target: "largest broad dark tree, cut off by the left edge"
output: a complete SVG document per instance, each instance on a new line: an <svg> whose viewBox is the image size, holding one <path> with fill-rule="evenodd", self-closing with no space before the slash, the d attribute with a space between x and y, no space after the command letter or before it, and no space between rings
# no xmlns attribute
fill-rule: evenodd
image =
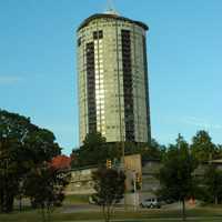
<svg viewBox="0 0 222 222"><path fill-rule="evenodd" d="M0 211L12 211L26 174L60 153L52 132L29 118L0 110Z"/></svg>

